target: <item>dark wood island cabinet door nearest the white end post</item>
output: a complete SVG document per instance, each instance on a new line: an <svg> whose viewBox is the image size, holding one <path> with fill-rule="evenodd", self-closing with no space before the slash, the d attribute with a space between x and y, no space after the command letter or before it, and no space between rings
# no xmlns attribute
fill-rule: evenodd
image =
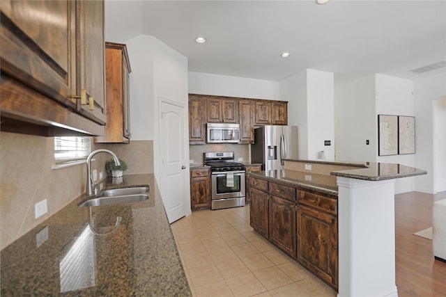
<svg viewBox="0 0 446 297"><path fill-rule="evenodd" d="M337 287L337 217L298 206L298 262Z"/></svg>

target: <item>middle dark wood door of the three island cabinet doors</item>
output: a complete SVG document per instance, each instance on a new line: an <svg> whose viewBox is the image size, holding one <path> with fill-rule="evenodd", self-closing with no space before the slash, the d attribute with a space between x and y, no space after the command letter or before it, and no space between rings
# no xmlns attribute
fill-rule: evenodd
<svg viewBox="0 0 446 297"><path fill-rule="evenodd" d="M295 257L295 202L270 196L270 241Z"/></svg>

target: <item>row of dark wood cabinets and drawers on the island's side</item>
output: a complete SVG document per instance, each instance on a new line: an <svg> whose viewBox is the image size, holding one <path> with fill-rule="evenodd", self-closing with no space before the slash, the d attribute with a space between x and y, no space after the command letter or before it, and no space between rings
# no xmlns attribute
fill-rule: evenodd
<svg viewBox="0 0 446 297"><path fill-rule="evenodd" d="M295 186L297 200L291 199L291 195L284 195L285 199L272 193L289 193L289 184L254 175L251 175L250 184L250 220L254 230L337 289L337 198Z"/></svg>

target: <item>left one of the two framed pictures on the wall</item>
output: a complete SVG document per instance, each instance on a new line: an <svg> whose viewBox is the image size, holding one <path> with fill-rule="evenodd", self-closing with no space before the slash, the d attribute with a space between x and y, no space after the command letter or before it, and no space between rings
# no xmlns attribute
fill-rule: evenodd
<svg viewBox="0 0 446 297"><path fill-rule="evenodd" d="M378 156L398 154L398 116L378 115Z"/></svg>

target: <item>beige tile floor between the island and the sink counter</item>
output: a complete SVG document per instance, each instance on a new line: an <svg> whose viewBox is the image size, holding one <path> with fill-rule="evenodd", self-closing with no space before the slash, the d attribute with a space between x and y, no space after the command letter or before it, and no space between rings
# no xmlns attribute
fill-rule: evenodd
<svg viewBox="0 0 446 297"><path fill-rule="evenodd" d="M336 296L249 226L249 205L171 225L193 296Z"/></svg>

